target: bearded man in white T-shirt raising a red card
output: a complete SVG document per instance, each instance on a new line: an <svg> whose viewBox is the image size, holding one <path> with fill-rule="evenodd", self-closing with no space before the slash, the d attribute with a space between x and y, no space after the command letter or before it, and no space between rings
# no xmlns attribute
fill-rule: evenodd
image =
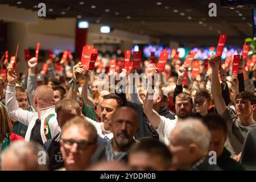
<svg viewBox="0 0 256 182"><path fill-rule="evenodd" d="M157 74L157 71L154 70L151 73L152 78ZM154 83L154 80L152 81ZM154 85L150 85L149 89L152 89ZM155 97L154 92L147 92L143 111L147 116L148 121L152 124L152 126L156 129L159 134L159 140L165 144L169 144L168 135L171 130L174 129L176 122L180 121L180 119L185 119L191 116L192 108L193 108L193 100L192 97L185 92L179 93L175 98L175 110L177 118L169 119L162 115L156 113L153 109L153 100L150 99Z"/></svg>

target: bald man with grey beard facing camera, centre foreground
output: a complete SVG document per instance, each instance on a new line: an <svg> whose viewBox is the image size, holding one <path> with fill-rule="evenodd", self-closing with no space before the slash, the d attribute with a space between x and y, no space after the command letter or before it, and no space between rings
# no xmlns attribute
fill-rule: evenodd
<svg viewBox="0 0 256 182"><path fill-rule="evenodd" d="M96 163L100 160L127 162L130 147L135 143L134 135L139 130L137 112L127 106L119 107L114 111L110 127L113 139L105 146L98 147L92 158Z"/></svg>

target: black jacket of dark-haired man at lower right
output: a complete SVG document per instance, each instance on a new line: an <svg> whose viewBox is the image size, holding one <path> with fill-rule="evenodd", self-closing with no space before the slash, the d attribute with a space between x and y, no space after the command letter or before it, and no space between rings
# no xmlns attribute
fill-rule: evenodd
<svg viewBox="0 0 256 182"><path fill-rule="evenodd" d="M230 158L230 152L224 147L224 150L219 158L217 158L217 164L224 171L245 171L242 164L236 162L236 160Z"/></svg>

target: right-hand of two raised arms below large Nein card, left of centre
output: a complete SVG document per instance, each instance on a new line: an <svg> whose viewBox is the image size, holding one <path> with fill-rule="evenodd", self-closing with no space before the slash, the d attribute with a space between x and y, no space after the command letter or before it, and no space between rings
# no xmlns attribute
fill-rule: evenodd
<svg viewBox="0 0 256 182"><path fill-rule="evenodd" d="M89 105L93 108L96 107L96 104L94 102L94 100L89 96L89 90L88 90L88 85L89 85L89 80L90 80L90 75L89 75L89 71L85 71L84 72L84 85L82 86L82 99L84 100L86 105Z"/></svg>

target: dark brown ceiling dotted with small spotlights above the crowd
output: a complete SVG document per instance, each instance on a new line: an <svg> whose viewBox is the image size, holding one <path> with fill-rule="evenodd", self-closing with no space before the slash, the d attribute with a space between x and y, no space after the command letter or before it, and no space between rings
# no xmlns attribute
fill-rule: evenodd
<svg viewBox="0 0 256 182"><path fill-rule="evenodd" d="M0 0L2 4L38 11L38 3L46 3L46 18L78 17L91 23L170 40L183 46L214 46L219 34L228 34L228 45L240 46L253 36L251 9L221 7L214 0L73 0L18 1ZM18 2L18 3L17 3ZM160 3L159 3L160 2ZM209 3L217 4L217 17L209 17ZM158 3L158 4L157 4Z"/></svg>

